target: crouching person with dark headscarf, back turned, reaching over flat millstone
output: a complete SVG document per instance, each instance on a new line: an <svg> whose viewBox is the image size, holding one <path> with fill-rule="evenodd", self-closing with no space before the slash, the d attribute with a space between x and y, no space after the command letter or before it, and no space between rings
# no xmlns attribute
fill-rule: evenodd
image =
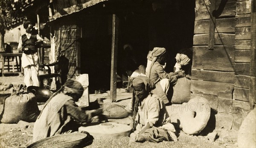
<svg viewBox="0 0 256 148"><path fill-rule="evenodd" d="M34 142L57 134L78 131L79 126L90 123L92 117L102 114L102 108L84 111L75 102L84 89L78 81L71 79L55 92L45 103L33 129Z"/></svg>

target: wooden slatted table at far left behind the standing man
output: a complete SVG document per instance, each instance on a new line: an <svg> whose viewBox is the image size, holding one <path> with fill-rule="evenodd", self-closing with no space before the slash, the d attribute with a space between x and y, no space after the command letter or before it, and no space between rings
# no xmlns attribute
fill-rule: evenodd
<svg viewBox="0 0 256 148"><path fill-rule="evenodd" d="M4 76L4 74L13 74L13 73L18 73L19 75L23 74L23 68L21 67L22 53L0 53L0 56L2 57L2 63L3 63L2 76ZM18 57L19 57L19 60L17 59ZM12 61L10 61L10 59L12 59ZM14 59L16 60L15 65L14 65ZM7 65L5 65L6 60L7 60ZM10 62L12 62L12 65L10 64ZM5 72L4 70L8 70L8 71Z"/></svg>

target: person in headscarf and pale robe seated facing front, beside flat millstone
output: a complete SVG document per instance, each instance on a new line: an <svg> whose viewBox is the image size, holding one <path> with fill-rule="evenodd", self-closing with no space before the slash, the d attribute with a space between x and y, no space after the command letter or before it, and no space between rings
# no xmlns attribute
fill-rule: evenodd
<svg viewBox="0 0 256 148"><path fill-rule="evenodd" d="M132 81L133 98L131 112L133 133L131 140L138 142L161 142L177 140L175 128L161 98L151 93L154 82L145 76L138 76Z"/></svg>

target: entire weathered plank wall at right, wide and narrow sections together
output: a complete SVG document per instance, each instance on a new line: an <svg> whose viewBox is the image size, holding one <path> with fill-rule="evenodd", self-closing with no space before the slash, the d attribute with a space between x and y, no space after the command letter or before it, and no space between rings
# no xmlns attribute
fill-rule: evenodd
<svg viewBox="0 0 256 148"><path fill-rule="evenodd" d="M249 105L250 0L227 0L215 20L214 49L209 50L209 0L196 0L192 64L193 93ZM221 0L216 0L216 9ZM233 101L233 106L240 103ZM235 105L234 105L235 104ZM241 107L241 106L240 106ZM247 109L250 106L247 106Z"/></svg>

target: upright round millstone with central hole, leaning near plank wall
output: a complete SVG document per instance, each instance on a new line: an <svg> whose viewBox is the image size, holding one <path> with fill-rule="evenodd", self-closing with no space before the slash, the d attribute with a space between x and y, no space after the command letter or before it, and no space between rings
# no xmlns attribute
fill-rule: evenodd
<svg viewBox="0 0 256 148"><path fill-rule="evenodd" d="M186 134L198 134L206 127L211 113L208 103L206 98L197 96L184 103L186 107L182 105L180 126Z"/></svg>

